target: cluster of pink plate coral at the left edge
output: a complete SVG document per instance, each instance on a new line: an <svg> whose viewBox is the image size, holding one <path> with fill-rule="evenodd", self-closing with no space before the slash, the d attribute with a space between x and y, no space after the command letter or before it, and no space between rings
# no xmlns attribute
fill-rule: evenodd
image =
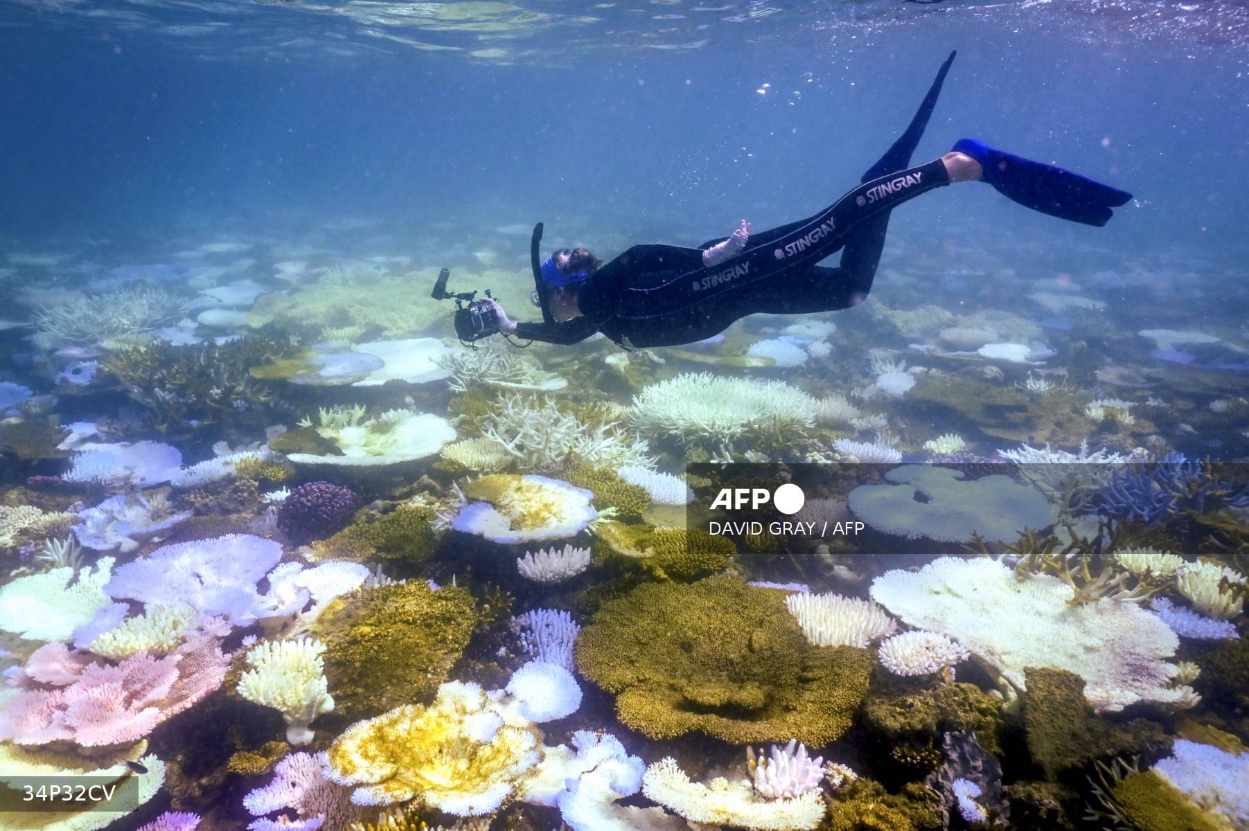
<svg viewBox="0 0 1249 831"><path fill-rule="evenodd" d="M0 739L86 747L137 741L221 686L229 665L211 633L192 635L165 658L139 653L120 664L47 644L10 679L22 689L0 705Z"/></svg>

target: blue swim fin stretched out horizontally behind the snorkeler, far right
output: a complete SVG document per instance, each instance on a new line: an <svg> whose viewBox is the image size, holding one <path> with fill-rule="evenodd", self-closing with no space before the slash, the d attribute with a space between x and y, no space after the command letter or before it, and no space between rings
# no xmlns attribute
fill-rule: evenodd
<svg viewBox="0 0 1249 831"><path fill-rule="evenodd" d="M1008 200L1060 220L1103 226L1110 221L1110 208L1132 198L1127 191L1062 167L1012 156L974 138L959 140L954 152L967 153L980 162L984 168L980 181L995 187Z"/></svg>

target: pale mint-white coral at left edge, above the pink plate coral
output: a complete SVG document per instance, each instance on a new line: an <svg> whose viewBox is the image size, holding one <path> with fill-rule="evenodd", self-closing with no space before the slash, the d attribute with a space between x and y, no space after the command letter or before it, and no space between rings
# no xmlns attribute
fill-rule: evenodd
<svg viewBox="0 0 1249 831"><path fill-rule="evenodd" d="M69 640L75 629L111 605L104 585L112 561L100 558L94 569L80 569L77 580L74 569L65 566L6 583L0 586L0 629L26 640Z"/></svg>

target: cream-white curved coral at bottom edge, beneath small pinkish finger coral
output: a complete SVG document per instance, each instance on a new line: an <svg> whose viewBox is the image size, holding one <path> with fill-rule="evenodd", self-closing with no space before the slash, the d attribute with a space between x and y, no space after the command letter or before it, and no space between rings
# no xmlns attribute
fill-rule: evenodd
<svg viewBox="0 0 1249 831"><path fill-rule="evenodd" d="M769 800L754 794L749 780L692 782L671 756L646 769L642 792L691 822L708 825L797 831L814 829L824 817L824 799L818 789L794 799Z"/></svg>

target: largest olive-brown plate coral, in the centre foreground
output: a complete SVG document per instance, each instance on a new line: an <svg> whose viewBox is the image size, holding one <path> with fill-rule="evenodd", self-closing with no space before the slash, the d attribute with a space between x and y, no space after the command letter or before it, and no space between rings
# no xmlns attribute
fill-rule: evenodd
<svg viewBox="0 0 1249 831"><path fill-rule="evenodd" d="M581 674L617 694L621 721L653 739L817 747L849 727L873 663L864 649L809 645L781 591L726 575L608 600L575 651Z"/></svg>

